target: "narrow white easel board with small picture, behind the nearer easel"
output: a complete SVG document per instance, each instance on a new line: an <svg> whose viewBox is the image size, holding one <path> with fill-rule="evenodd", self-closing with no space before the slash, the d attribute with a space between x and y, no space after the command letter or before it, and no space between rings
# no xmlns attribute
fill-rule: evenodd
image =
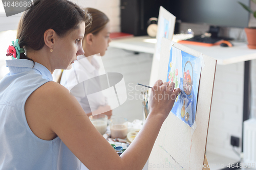
<svg viewBox="0 0 256 170"><path fill-rule="evenodd" d="M157 81L156 79L158 76L158 65L161 53L161 40L163 37L172 40L174 35L175 21L176 17L162 6L160 6L157 24L157 42L155 45L155 52L152 61L150 85L153 85Z"/></svg>

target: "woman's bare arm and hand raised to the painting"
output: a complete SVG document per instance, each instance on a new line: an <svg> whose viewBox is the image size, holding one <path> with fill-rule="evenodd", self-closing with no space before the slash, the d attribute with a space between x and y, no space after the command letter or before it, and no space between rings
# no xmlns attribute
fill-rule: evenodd
<svg viewBox="0 0 256 170"><path fill-rule="evenodd" d="M94 128L74 96L55 82L48 82L31 94L25 105L26 118L36 136L48 140L59 136L89 169L142 169L180 92L180 89L173 90L174 83L169 85L161 80L155 83L150 96L150 114L121 156Z"/></svg>

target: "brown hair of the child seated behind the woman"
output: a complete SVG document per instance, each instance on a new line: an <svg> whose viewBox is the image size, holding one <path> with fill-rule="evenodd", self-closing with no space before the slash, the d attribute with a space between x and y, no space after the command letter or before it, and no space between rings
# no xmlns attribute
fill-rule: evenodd
<svg viewBox="0 0 256 170"><path fill-rule="evenodd" d="M108 16L106 16L103 12L96 10L94 8L86 8L86 11L91 14L93 20L91 27L86 30L85 35L92 33L94 35L98 34L105 25L110 21Z"/></svg>

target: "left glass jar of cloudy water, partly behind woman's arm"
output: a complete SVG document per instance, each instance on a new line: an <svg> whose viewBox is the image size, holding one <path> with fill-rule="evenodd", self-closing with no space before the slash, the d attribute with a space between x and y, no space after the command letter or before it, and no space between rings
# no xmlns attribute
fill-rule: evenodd
<svg viewBox="0 0 256 170"><path fill-rule="evenodd" d="M106 132L108 126L108 116L105 114L98 114L95 116L89 116L93 126L99 131L101 135Z"/></svg>

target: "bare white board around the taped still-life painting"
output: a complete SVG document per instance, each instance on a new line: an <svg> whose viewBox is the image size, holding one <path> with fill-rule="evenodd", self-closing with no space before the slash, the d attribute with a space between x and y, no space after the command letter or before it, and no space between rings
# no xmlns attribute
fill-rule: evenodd
<svg viewBox="0 0 256 170"><path fill-rule="evenodd" d="M178 50L201 58L204 67L201 71L198 103L197 103L197 127L193 131L184 124L176 115L169 114L162 125L151 152L149 163L152 165L171 165L179 169L210 169L205 156L212 90L214 86L215 69L217 61L200 52L192 50L181 44L172 42L166 38L161 43L161 58L159 61L158 79L166 81L168 74L170 49ZM203 165L203 167L202 167ZM178 169L177 168L177 169ZM148 169L152 169L148 167Z"/></svg>

